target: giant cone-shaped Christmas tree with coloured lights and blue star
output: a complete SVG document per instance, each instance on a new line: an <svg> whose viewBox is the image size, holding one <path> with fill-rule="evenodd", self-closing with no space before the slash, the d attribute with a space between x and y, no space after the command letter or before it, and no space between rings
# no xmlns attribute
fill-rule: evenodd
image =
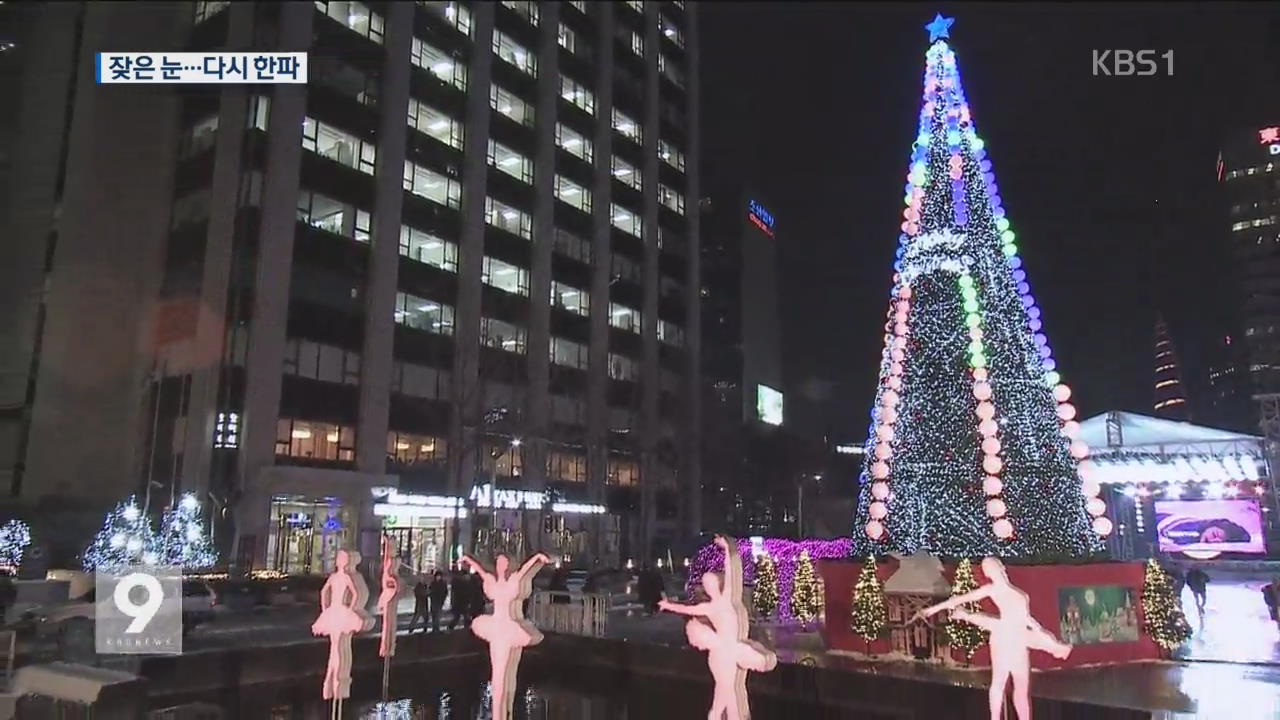
<svg viewBox="0 0 1280 720"><path fill-rule="evenodd" d="M858 552L1053 559L1111 532L956 58L931 23Z"/></svg>

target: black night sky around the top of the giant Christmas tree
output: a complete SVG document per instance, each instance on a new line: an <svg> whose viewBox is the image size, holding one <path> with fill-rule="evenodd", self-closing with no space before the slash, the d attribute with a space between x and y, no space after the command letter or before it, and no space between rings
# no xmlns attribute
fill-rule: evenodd
<svg viewBox="0 0 1280 720"><path fill-rule="evenodd" d="M828 409L801 423L867 429L934 12L956 18L965 95L1082 416L1151 413L1157 311L1199 380L1234 311L1219 147L1280 123L1275 4L700 12L703 173L745 176L777 218L788 386ZM1094 77L1093 49L1171 49L1174 76Z"/></svg>

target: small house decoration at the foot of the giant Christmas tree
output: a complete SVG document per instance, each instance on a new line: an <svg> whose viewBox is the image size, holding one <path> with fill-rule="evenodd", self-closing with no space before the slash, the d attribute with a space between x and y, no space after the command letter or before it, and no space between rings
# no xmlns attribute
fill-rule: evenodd
<svg viewBox="0 0 1280 720"><path fill-rule="evenodd" d="M905 660L950 662L943 630L946 614L913 621L918 611L951 594L951 585L942 575L942 562L925 552L895 557L897 570L884 582L890 653Z"/></svg>

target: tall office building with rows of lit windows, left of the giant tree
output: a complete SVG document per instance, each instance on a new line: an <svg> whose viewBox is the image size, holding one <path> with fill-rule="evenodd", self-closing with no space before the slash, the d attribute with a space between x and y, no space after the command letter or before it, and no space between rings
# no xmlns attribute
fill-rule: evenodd
<svg viewBox="0 0 1280 720"><path fill-rule="evenodd" d="M68 187L47 272L52 297L74 215L84 243L92 227L134 225L114 231L137 238L127 258L104 259L143 287L115 328L133 337L115 354L133 384L109 393L133 451L113 457L118 487L102 495L198 492L227 518L230 560L289 573L323 571L371 530L424 569L476 544L613 564L696 530L691 5L63 13L77 31L61 174L88 182L82 155L146 174L97 178L136 200L132 215L102 204L95 217ZM166 49L306 51L310 82L84 79L97 50ZM133 123L136 147L110 146L120 131L104 110ZM78 131L110 147L78 152ZM41 392L59 382L45 365L92 364L47 342L86 322L44 307L20 495L76 461L54 451L74 404ZM61 402L59 421L41 421L46 402Z"/></svg>

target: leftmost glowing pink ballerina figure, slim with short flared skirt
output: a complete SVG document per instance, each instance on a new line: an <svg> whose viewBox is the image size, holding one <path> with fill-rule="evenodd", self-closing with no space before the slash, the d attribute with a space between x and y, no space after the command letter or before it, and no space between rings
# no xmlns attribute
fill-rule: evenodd
<svg viewBox="0 0 1280 720"><path fill-rule="evenodd" d="M351 637L371 630L374 619L365 610L369 588L356 573L360 553L339 550L335 568L320 588L320 616L311 633L329 637L329 665L324 673L323 696L333 701L330 714L342 716L342 701L351 697Z"/></svg>

